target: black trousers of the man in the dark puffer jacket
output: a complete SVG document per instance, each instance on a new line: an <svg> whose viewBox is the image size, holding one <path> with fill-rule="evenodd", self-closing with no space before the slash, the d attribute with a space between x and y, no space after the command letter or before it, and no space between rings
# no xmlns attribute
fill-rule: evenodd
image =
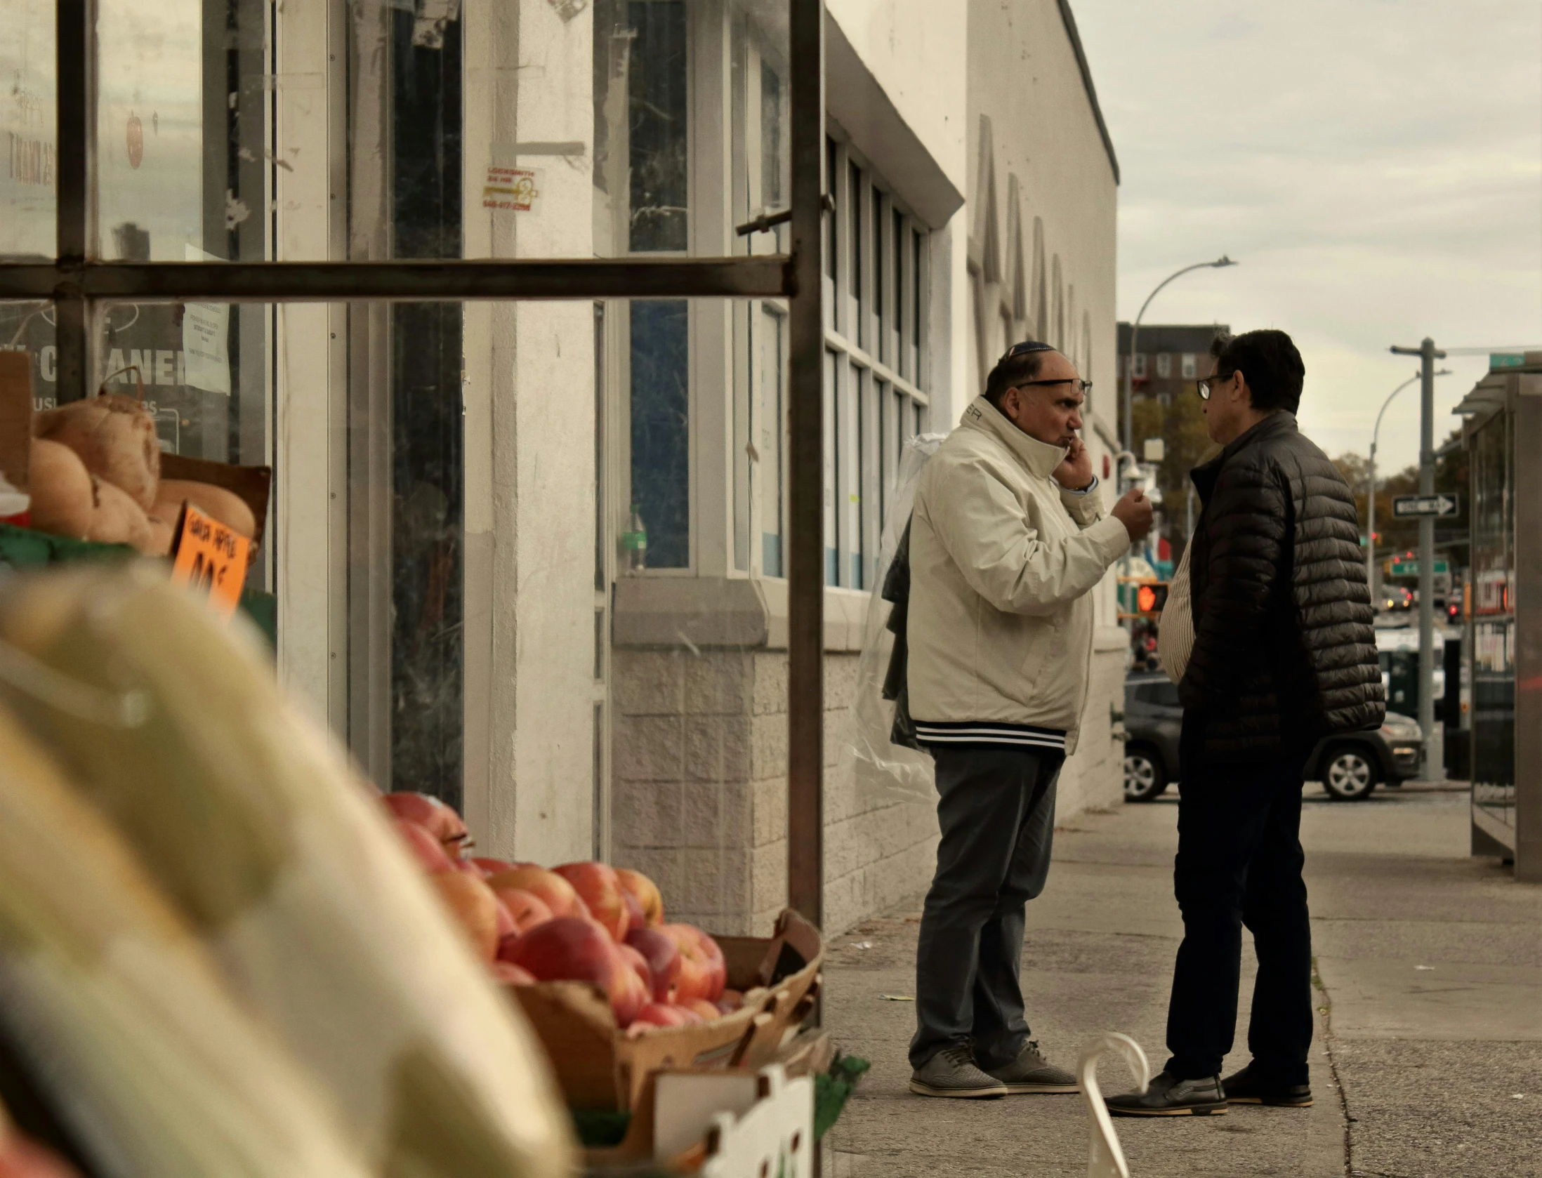
<svg viewBox="0 0 1542 1178"><path fill-rule="evenodd" d="M1312 930L1301 879L1301 769L1309 749L1260 765L1206 765L1203 720L1184 717L1173 890L1183 944L1167 1005L1166 1070L1215 1076L1232 1050L1241 930L1254 936L1247 1048L1266 1082L1308 1082L1312 1044ZM1194 766L1194 768L1190 768Z"/></svg>

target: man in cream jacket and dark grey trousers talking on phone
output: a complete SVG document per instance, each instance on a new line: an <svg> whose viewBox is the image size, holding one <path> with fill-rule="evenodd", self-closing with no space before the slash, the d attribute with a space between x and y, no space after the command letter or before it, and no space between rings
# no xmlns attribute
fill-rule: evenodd
<svg viewBox="0 0 1542 1178"><path fill-rule="evenodd" d="M910 1044L924 1096L1076 1090L1029 1039L1024 905L1049 874L1087 698L1087 592L1152 523L1140 490L1104 513L1076 435L1086 389L1059 352L1016 344L916 487L908 692L942 828Z"/></svg>

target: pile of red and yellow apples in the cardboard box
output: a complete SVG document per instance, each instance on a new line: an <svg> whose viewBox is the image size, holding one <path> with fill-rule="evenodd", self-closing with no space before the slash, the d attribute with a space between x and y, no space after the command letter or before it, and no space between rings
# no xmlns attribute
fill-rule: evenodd
<svg viewBox="0 0 1542 1178"><path fill-rule="evenodd" d="M427 794L384 796L429 882L506 985L594 982L629 1035L739 1010L723 951L695 925L665 924L658 888L606 863L507 863L466 857L466 823Z"/></svg>

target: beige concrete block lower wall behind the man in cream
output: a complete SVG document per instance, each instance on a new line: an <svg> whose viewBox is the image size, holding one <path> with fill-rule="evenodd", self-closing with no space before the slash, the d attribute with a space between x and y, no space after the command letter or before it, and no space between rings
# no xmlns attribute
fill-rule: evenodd
<svg viewBox="0 0 1542 1178"><path fill-rule="evenodd" d="M617 648L611 846L652 876L674 919L763 936L786 904L786 652ZM859 782L840 763L857 655L825 655L825 930L921 893L936 863L931 799ZM1086 726L1058 820L1119 805L1123 649L1093 654Z"/></svg>

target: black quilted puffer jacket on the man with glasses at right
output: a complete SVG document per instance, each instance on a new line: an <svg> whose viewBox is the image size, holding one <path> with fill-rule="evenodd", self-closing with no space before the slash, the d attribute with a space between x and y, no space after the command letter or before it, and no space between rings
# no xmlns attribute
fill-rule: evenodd
<svg viewBox="0 0 1542 1178"><path fill-rule="evenodd" d="M1190 478L1204 504L1189 577L1194 652L1178 694L1204 757L1266 760L1386 714L1360 524L1343 475L1274 413ZM1303 749L1305 751L1305 749Z"/></svg>

